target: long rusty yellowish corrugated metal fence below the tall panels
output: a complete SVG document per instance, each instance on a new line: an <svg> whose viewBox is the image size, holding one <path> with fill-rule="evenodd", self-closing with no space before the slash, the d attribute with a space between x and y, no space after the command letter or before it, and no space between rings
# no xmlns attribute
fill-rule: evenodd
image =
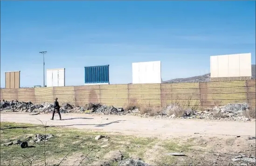
<svg viewBox="0 0 256 166"><path fill-rule="evenodd" d="M210 83L163 83L69 86L33 89L1 89L5 100L35 101L35 103L69 102L76 106L101 103L122 107L127 103L166 106L180 103L186 106L214 107L228 103L256 104L256 80Z"/></svg>

